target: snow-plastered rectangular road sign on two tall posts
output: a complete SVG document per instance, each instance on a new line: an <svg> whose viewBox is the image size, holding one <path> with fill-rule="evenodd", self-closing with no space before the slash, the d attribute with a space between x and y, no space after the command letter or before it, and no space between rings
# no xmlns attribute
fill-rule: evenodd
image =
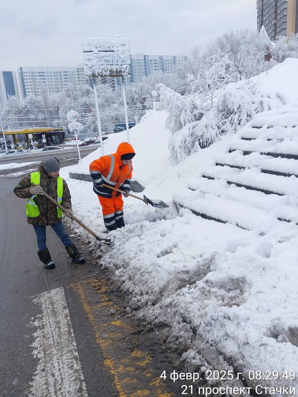
<svg viewBox="0 0 298 397"><path fill-rule="evenodd" d="M121 77L126 133L128 143L130 143L124 87L124 77L130 76L130 44L128 39L117 37L116 39L83 39L82 46L85 77L86 79L93 79L97 124L101 140L101 153L104 155L95 81L97 77Z"/></svg>

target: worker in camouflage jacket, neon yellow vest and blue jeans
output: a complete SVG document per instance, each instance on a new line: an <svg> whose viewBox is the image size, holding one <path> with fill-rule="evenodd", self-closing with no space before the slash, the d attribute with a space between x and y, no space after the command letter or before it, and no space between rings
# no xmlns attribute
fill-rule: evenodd
<svg viewBox="0 0 298 397"><path fill-rule="evenodd" d="M14 188L17 197L27 198L27 223L33 225L39 251L39 259L46 269L53 269L54 262L46 247L46 226L51 226L64 244L73 262L85 263L85 259L75 247L62 224L62 210L44 196L44 192L61 204L65 209L64 215L71 218L72 203L70 191L66 181L59 176L60 163L54 158L48 158L39 164L37 172L26 175ZM34 187L31 183L34 183Z"/></svg>

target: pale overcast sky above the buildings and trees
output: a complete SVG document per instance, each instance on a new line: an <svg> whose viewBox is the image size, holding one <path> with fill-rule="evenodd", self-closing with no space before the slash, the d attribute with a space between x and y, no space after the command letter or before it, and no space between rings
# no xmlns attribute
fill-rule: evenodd
<svg viewBox="0 0 298 397"><path fill-rule="evenodd" d="M128 37L130 52L188 55L256 29L256 0L0 0L0 70L83 63L83 37Z"/></svg>

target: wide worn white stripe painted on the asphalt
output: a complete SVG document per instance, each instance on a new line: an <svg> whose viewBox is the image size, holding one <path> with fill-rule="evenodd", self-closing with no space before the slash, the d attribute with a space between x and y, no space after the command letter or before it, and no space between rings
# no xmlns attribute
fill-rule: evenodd
<svg viewBox="0 0 298 397"><path fill-rule="evenodd" d="M63 288L37 295L33 302L42 313L32 322L37 327L32 354L39 363L28 397L88 397Z"/></svg>

